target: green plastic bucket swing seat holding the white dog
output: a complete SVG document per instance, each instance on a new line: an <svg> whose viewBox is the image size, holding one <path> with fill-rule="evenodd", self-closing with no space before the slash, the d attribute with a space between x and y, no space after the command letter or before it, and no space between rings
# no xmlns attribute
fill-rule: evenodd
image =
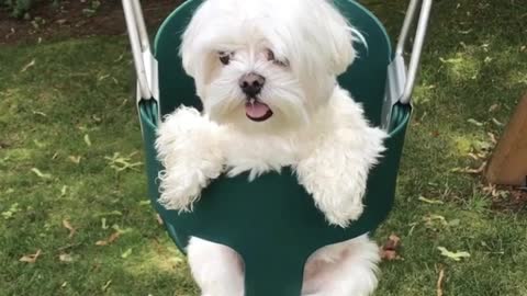
<svg viewBox="0 0 527 296"><path fill-rule="evenodd" d="M126 1L130 0L123 0L123 5L128 5L125 4ZM393 94L388 93L393 89L393 83L386 83L386 80L397 80L389 70L393 69L389 65L393 64L394 58L390 39L381 23L362 5L350 0L335 1L350 23L362 32L368 44L368 47L358 47L360 58L339 77L339 82L363 104L372 124L383 124L390 132L385 141L388 150L381 163L369 175L365 213L350 227L343 229L329 226L315 207L312 197L299 185L290 168L283 168L280 173L265 174L253 182L248 182L244 174L236 178L221 177L203 191L192 213L178 214L157 203L158 173L161 166L157 160L154 144L157 125L162 115L181 104L201 109L193 80L184 73L177 55L180 34L201 2L184 2L161 25L153 50L154 70L146 71L150 75L154 71L154 78L148 82L156 87L156 91L146 95L138 92L149 196L169 236L181 251L186 251L189 238L194 236L228 246L242 255L245 262L246 296L298 296L302 287L304 263L315 250L373 231L392 208L399 162L412 107L404 102L397 102L400 98L391 99ZM141 8L138 3L133 5L125 7L125 12L126 9L135 9L137 14ZM142 14L138 15L142 21ZM410 24L411 21L405 23ZM138 31L141 30L139 26ZM131 41L136 42L137 36L139 34L131 34ZM146 54L149 52L146 50ZM142 62L141 59L135 61L136 66ZM404 71L404 64L402 69ZM145 72L145 69L138 67L139 76L141 70ZM141 79L138 86L144 87ZM386 109L386 101L390 100L388 109L391 116L386 117L386 112L382 109ZM389 122L383 123L386 118Z"/></svg>

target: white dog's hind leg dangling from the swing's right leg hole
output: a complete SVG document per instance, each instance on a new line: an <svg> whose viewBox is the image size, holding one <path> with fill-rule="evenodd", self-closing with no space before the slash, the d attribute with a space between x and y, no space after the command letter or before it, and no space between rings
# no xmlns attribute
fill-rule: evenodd
<svg viewBox="0 0 527 296"><path fill-rule="evenodd" d="M302 296L371 295L379 260L379 248L367 236L325 247L307 261L311 275L304 280Z"/></svg>

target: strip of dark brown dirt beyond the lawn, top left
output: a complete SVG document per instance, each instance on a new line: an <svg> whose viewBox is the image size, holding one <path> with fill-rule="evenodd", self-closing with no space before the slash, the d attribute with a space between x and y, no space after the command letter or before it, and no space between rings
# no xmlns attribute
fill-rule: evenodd
<svg viewBox="0 0 527 296"><path fill-rule="evenodd" d="M0 10L0 45L34 43L53 38L90 35L121 35L125 21L121 1L103 0L94 13L87 13L90 1L61 1L54 8L48 1L40 2L31 11L31 20L11 18ZM157 29L167 15L184 0L143 0L148 27Z"/></svg>

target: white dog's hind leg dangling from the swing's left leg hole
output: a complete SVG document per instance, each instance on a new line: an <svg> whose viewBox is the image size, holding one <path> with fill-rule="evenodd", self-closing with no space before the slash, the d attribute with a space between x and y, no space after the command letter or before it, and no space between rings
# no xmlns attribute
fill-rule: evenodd
<svg viewBox="0 0 527 296"><path fill-rule="evenodd" d="M192 275L202 296L243 296L244 269L240 257L231 248L192 238L188 247Z"/></svg>

